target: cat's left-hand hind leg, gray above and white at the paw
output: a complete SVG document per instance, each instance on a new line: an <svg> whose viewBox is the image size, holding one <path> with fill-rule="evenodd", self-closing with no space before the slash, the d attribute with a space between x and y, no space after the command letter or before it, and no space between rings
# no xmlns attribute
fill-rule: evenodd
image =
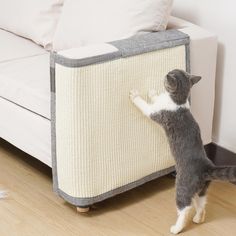
<svg viewBox="0 0 236 236"><path fill-rule="evenodd" d="M192 198L193 194L188 192L188 189L177 186L177 194L176 194L176 204L178 211L178 218L175 225L171 226L170 232L172 234L180 233L184 227L186 226L189 212L192 208Z"/></svg>

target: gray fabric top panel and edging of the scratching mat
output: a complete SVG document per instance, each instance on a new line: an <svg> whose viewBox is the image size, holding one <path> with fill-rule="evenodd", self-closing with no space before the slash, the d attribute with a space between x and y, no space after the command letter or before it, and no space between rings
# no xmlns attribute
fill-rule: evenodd
<svg viewBox="0 0 236 236"><path fill-rule="evenodd" d="M109 42L109 44L115 46L119 51L83 59L70 59L53 52L51 54L51 67L54 67L54 63L66 67L83 67L122 57L129 57L160 49L187 45L189 44L189 36L173 29L136 35L128 39Z"/></svg>

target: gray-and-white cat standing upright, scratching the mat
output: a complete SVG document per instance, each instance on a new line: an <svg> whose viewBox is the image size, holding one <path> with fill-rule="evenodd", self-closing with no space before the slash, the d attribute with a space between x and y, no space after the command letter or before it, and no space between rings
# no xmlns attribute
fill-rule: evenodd
<svg viewBox="0 0 236 236"><path fill-rule="evenodd" d="M199 125L190 112L190 90L200 79L183 70L172 70L164 78L164 93L157 95L153 89L148 92L151 103L137 90L130 91L133 104L164 128L176 162L178 218L170 228L173 234L186 226L192 203L196 210L193 222L204 222L206 194L212 180L236 181L236 167L216 167L207 158Z"/></svg>

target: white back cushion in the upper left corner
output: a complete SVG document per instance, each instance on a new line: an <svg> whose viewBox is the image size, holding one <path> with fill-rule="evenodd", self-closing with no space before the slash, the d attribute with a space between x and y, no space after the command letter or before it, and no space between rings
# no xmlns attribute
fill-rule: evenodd
<svg viewBox="0 0 236 236"><path fill-rule="evenodd" d="M50 49L64 0L0 0L0 28Z"/></svg>

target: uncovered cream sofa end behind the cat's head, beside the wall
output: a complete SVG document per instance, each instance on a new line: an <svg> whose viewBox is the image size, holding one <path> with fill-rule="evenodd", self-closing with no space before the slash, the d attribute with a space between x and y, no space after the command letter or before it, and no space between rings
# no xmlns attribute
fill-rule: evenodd
<svg viewBox="0 0 236 236"><path fill-rule="evenodd" d="M171 17L169 28L178 29L190 37L191 73L202 76L192 89L191 110L200 125L203 142L208 144L212 141L217 36L177 17Z"/></svg>

